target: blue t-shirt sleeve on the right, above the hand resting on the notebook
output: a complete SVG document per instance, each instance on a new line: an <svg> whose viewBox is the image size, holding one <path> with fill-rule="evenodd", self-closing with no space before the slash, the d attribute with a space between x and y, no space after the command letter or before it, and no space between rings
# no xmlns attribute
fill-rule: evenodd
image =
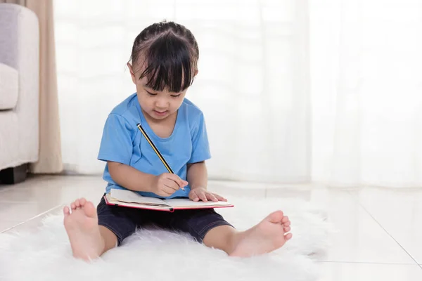
<svg viewBox="0 0 422 281"><path fill-rule="evenodd" d="M205 161L211 158L210 145L208 143L207 128L204 116L201 114L199 122L191 130L192 154L188 164Z"/></svg>

